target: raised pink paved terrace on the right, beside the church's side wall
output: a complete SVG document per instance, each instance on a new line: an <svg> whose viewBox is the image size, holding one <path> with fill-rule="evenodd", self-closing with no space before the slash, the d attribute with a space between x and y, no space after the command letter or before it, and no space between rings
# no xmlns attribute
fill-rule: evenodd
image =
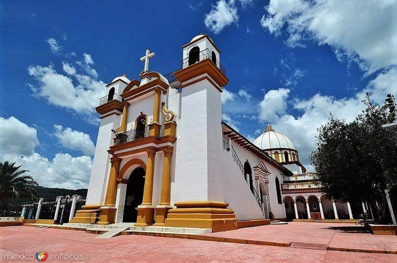
<svg viewBox="0 0 397 263"><path fill-rule="evenodd" d="M397 252L397 236L372 235L363 232L360 226L346 223L289 222L287 225L257 226L206 235L276 243L306 243L309 248L329 246ZM305 247L305 244L295 245Z"/></svg>

